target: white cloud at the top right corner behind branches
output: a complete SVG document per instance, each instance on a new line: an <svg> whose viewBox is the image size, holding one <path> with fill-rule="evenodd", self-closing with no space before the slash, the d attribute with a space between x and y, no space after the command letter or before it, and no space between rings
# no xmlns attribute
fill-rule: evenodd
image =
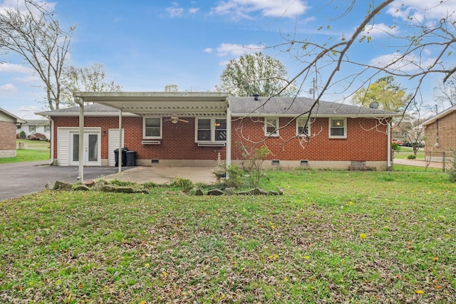
<svg viewBox="0 0 456 304"><path fill-rule="evenodd" d="M402 0L393 1L388 6L387 13L403 20L412 18L423 22L425 19L446 18L448 15L454 14L455 10L456 0Z"/></svg>

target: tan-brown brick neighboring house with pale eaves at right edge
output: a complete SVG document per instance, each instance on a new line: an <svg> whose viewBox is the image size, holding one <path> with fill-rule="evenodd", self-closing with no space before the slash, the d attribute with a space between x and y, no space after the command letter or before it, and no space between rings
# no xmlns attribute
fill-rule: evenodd
<svg viewBox="0 0 456 304"><path fill-rule="evenodd" d="M440 112L421 124L425 130L426 151L435 156L456 150L456 105Z"/></svg>

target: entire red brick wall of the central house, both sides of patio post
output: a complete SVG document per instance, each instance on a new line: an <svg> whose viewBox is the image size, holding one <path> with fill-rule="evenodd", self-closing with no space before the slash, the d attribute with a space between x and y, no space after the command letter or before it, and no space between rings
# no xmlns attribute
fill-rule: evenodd
<svg viewBox="0 0 456 304"><path fill-rule="evenodd" d="M78 127L78 117L53 117L54 134L57 127ZM123 117L125 130L124 143L128 150L137 152L138 159L217 159L220 152L226 158L224 147L198 147L195 143L195 119L185 117L188 123L173 124L169 117L162 122L161 145L142 145L142 117ZM284 126L289 118L281 118L279 126ZM86 127L100 127L106 131L101 136L101 157L108 158L108 129L118 128L118 117L85 117ZM232 123L232 159L240 159L235 142L249 140L266 145L271 150L268 159L296 160L359 160L385 161L387 143L385 123L368 118L347 118L347 138L330 139L328 118L317 118L311 125L311 138L308 145L300 145L296 135L296 123L279 131L280 137L269 137L264 141L264 122L234 120ZM290 140L291 139L291 140ZM57 157L57 138L54 136L54 155ZM263 142L264 141L264 142Z"/></svg>

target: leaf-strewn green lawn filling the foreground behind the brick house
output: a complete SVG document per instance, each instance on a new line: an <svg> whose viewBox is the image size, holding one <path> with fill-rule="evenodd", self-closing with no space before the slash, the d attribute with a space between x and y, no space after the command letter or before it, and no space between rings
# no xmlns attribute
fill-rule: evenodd
<svg viewBox="0 0 456 304"><path fill-rule="evenodd" d="M1 201L0 302L455 303L446 174L268 175L284 195Z"/></svg>

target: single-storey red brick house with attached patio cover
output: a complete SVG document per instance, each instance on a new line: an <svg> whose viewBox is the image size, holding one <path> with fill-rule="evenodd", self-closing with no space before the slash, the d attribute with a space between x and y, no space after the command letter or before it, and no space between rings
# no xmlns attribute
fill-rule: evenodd
<svg viewBox="0 0 456 304"><path fill-rule="evenodd" d="M95 103L83 107L84 165L113 166L119 142L136 152L139 165L214 166L219 157L239 164L240 146L263 145L270 151L265 167L348 169L354 162L385 170L391 162L394 112L324 101L311 109L309 98L222 93L75 96ZM50 117L51 159L60 165L78 164L79 113L80 108L37 113Z"/></svg>

